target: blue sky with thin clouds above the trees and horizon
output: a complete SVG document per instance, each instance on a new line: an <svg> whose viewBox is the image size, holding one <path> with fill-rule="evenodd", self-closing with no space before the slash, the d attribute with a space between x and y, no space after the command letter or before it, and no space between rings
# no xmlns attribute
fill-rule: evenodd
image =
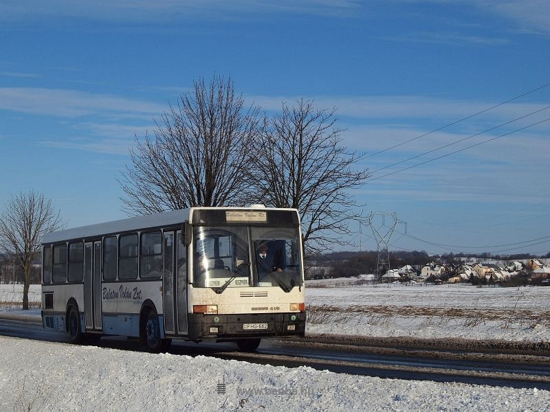
<svg viewBox="0 0 550 412"><path fill-rule="evenodd" d="M336 106L344 143L372 172L353 193L364 214L407 222L391 249L547 253L549 6L2 1L0 205L34 189L69 227L124 218L115 178L134 135L217 73L267 113L298 98ZM348 249L376 249L353 227Z"/></svg>

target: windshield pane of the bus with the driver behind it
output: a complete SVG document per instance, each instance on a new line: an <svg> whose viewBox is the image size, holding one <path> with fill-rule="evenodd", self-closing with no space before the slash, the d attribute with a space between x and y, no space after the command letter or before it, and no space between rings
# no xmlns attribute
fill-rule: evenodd
<svg viewBox="0 0 550 412"><path fill-rule="evenodd" d="M300 238L298 229L252 227L254 283L278 286L288 292L302 286Z"/></svg>

